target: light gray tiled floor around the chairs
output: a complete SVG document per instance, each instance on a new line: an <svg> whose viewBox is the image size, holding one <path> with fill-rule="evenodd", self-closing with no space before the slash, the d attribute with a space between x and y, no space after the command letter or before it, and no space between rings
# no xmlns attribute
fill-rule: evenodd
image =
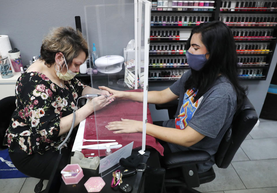
<svg viewBox="0 0 277 193"><path fill-rule="evenodd" d="M195 188L209 193L277 192L277 121L259 119L227 169L214 166L216 179ZM32 193L36 178L0 179L0 193ZM44 188L47 180L44 180Z"/></svg>

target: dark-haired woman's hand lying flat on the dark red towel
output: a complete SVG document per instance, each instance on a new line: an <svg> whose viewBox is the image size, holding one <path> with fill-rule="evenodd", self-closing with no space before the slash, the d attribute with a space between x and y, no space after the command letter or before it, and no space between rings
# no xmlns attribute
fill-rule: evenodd
<svg viewBox="0 0 277 193"><path fill-rule="evenodd" d="M142 121L122 119L113 121L105 126L108 130L115 130L113 133L136 133L142 132Z"/></svg>

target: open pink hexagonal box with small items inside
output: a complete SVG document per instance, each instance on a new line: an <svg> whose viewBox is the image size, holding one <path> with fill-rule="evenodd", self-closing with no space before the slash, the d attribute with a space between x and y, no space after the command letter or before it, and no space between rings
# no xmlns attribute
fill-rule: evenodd
<svg viewBox="0 0 277 193"><path fill-rule="evenodd" d="M79 164L68 164L61 171L61 178L66 185L78 184L78 182L84 177L83 170Z"/></svg>

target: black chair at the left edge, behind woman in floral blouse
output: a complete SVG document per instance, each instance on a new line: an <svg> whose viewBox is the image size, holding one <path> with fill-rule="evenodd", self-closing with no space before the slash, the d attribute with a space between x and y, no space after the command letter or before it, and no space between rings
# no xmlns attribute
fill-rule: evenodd
<svg viewBox="0 0 277 193"><path fill-rule="evenodd" d="M0 100L0 150L5 150L8 146L3 146L4 136L6 134L6 130L8 129L12 117L12 113L16 109L15 104L16 97L9 96ZM35 192L41 192L43 187L43 179L40 179L38 184L35 185Z"/></svg>

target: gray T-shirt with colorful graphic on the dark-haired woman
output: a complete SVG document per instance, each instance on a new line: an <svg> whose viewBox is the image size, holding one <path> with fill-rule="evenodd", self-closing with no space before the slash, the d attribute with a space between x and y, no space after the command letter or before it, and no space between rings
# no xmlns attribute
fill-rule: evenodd
<svg viewBox="0 0 277 193"><path fill-rule="evenodd" d="M224 133L230 127L236 111L236 92L231 82L224 76L219 76L214 85L199 100L193 103L192 90L185 90L184 85L190 76L190 70L169 88L179 96L179 105L175 119L164 121L164 127L185 129L189 125L192 129L205 135L198 143L184 147L169 143L172 152L184 150L204 150L211 155L211 161L198 164L198 173L208 171L214 165L216 153ZM196 93L194 93L195 95Z"/></svg>

